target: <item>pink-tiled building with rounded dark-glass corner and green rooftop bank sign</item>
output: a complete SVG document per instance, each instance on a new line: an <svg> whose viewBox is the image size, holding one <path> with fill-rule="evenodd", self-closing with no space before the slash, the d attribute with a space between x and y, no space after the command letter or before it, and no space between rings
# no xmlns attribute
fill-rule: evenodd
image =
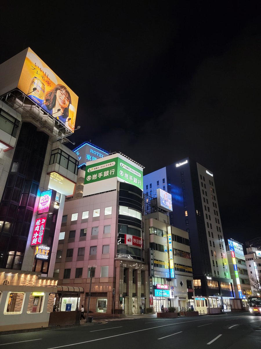
<svg viewBox="0 0 261 349"><path fill-rule="evenodd" d="M55 272L58 284L84 289L79 304L92 312L137 314L141 303L149 307L142 170L121 153L105 155L79 169L82 193L65 201Z"/></svg>

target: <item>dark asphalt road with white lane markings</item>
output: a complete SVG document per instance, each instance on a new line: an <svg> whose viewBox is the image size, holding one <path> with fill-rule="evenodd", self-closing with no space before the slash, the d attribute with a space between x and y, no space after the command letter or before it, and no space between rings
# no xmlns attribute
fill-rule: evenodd
<svg viewBox="0 0 261 349"><path fill-rule="evenodd" d="M0 336L5 349L260 349L261 316L248 313L157 319L107 319L102 324Z"/></svg>

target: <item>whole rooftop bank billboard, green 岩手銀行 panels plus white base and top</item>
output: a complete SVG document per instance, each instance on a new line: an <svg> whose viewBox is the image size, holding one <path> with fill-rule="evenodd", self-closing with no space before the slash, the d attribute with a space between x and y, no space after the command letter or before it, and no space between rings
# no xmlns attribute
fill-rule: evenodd
<svg viewBox="0 0 261 349"><path fill-rule="evenodd" d="M83 195L115 190L117 181L143 190L143 167L121 154L94 160L86 166Z"/></svg>

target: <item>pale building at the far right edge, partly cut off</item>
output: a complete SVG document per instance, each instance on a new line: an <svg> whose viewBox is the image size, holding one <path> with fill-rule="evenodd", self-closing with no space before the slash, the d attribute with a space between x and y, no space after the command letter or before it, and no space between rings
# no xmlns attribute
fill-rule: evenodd
<svg viewBox="0 0 261 349"><path fill-rule="evenodd" d="M252 294L261 295L261 250L247 247L245 259Z"/></svg>

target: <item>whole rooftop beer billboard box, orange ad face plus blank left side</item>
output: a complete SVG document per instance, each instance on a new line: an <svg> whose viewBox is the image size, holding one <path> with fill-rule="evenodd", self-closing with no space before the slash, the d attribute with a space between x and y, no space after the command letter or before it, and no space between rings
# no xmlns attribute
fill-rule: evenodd
<svg viewBox="0 0 261 349"><path fill-rule="evenodd" d="M78 96L30 47L0 65L0 85L3 83L6 88L1 88L0 95L18 88L73 132Z"/></svg>

